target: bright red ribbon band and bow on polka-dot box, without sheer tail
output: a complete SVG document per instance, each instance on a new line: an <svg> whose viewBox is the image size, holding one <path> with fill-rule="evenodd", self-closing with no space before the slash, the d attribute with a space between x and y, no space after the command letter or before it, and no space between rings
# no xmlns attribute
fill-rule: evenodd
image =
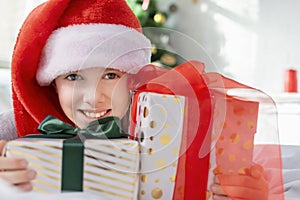
<svg viewBox="0 0 300 200"><path fill-rule="evenodd" d="M206 136L211 134L212 100L202 76L203 70L204 65L195 61L171 70L149 65L129 78L129 88L137 90L132 104L131 133L134 133L137 97L141 92L181 95L186 98L187 116L173 199L206 199L210 150L210 140L207 140L210 137ZM204 150L207 154L199 157L200 149L203 148L207 148Z"/></svg>

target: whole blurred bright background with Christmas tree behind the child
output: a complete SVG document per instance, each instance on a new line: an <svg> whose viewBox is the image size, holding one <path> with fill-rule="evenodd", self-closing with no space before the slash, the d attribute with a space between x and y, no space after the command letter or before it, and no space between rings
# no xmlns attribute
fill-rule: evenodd
<svg viewBox="0 0 300 200"><path fill-rule="evenodd" d="M18 30L25 16L42 2L0 0L1 111L11 107L9 68ZM290 121L290 116L298 120L298 90L287 93L284 84L286 70L297 73L300 69L299 1L151 0L147 10L142 9L141 0L127 2L153 43L153 62L174 67L185 60L200 60L206 71L271 95L281 120Z"/></svg>

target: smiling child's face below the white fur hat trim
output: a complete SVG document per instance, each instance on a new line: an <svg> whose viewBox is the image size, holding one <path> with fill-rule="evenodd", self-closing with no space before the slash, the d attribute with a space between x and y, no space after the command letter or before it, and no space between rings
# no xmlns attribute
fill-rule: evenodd
<svg viewBox="0 0 300 200"><path fill-rule="evenodd" d="M55 79L60 105L79 128L102 117L122 118L129 106L127 74L115 69L89 68Z"/></svg>

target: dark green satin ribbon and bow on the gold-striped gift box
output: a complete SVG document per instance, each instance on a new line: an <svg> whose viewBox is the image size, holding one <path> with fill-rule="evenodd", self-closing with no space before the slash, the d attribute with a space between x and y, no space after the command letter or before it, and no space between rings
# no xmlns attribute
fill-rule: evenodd
<svg viewBox="0 0 300 200"><path fill-rule="evenodd" d="M65 139L62 154L62 191L82 191L83 184L83 139L113 139L128 137L120 129L117 117L106 117L89 123L79 129L67 124L51 115L47 116L38 126L43 133L25 136L26 138L56 138ZM81 136L85 136L84 138Z"/></svg>

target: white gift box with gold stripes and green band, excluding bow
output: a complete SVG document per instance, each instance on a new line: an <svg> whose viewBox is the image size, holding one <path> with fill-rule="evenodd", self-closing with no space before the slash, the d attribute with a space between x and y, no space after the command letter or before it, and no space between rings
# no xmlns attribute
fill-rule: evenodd
<svg viewBox="0 0 300 200"><path fill-rule="evenodd" d="M7 143L6 156L28 160L29 168L37 171L32 181L37 192L84 191L107 199L136 199L137 141L86 139L78 147L71 139L76 147L69 150L65 143L64 139L20 138Z"/></svg>

